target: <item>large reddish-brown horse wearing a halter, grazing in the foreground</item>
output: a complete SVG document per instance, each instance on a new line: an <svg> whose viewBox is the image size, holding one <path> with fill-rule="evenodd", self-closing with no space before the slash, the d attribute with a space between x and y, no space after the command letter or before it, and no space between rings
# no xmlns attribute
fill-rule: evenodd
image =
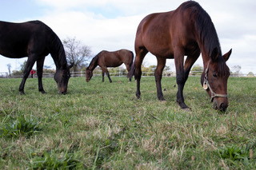
<svg viewBox="0 0 256 170"><path fill-rule="evenodd" d="M129 76L137 80L136 96L139 98L142 61L146 53L157 57L155 81L158 99L164 101L162 95L162 69L166 58L174 58L176 81L178 84L177 102L182 109L188 109L184 102L183 88L190 69L202 53L205 72L202 73L202 85L214 101L214 109L226 111L227 79L230 75L226 61L231 49L222 56L218 35L209 14L197 3L188 1L178 9L150 14L140 22L135 38L136 57ZM186 57L184 65L184 56Z"/></svg>

